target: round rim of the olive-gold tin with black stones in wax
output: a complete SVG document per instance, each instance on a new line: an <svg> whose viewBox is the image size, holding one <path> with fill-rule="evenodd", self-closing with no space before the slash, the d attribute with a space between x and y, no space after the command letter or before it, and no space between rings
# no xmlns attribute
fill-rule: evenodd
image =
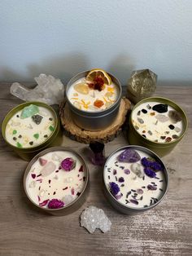
<svg viewBox="0 0 192 256"><path fill-rule="evenodd" d="M137 132L137 130L135 129L135 127L133 126L133 122L132 122L132 116L133 116L133 111L141 104L143 103L146 103L148 101L152 101L152 102L155 102L155 101L159 101L159 103L163 103L163 104L168 104L170 105L172 108L175 108L179 113L181 113L181 116L182 116L182 121L184 122L184 129L181 133L181 135L177 138L177 139L174 139L173 141L170 141L170 142L166 142L166 143L161 143L161 142L155 142L155 141L152 141L150 139L146 139L145 137L143 137L140 133ZM169 104L170 103L170 104ZM184 117L184 118L183 118ZM134 105L133 109L132 109L132 112L131 112L131 115L130 115L130 123L131 125L133 126L133 130L136 131L137 135L140 135L142 137L142 139L146 142L149 142L149 143L152 143L153 145L164 145L164 148L166 148L166 145L169 147L169 145L172 145L174 143L177 143L179 142L183 136L185 135L186 131L187 131L187 128L188 128L188 119L186 117L186 114L185 114L185 111L179 106L177 105L174 101L170 100L170 99L167 99L167 98L164 98L164 97L149 97L149 98L146 98L146 99L142 99L140 100L136 105Z"/></svg>

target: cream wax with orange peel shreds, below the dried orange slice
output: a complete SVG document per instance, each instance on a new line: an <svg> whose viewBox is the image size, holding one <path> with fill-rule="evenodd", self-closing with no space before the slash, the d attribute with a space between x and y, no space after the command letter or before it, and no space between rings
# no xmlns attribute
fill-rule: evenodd
<svg viewBox="0 0 192 256"><path fill-rule="evenodd" d="M84 83L86 85L85 77L78 79L76 82L70 86L68 90L68 99L70 102L76 107L84 111L88 112L98 112L105 110L111 107L112 104L116 102L120 95L119 88L116 86L114 82L111 82L110 86L105 85L104 90L94 90L89 89L87 86L87 94L82 94L75 90L75 86L77 84ZM103 106L101 108L97 108L94 106L95 100L102 100Z"/></svg>

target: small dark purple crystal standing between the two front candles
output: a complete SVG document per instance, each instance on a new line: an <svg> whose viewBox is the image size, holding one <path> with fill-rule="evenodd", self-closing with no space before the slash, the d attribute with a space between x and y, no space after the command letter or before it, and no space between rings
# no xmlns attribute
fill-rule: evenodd
<svg viewBox="0 0 192 256"><path fill-rule="evenodd" d="M89 148L93 152L93 156L90 160L94 164L94 166L103 166L103 164L105 163L106 159L104 157L104 147L105 145L103 143L89 143Z"/></svg>

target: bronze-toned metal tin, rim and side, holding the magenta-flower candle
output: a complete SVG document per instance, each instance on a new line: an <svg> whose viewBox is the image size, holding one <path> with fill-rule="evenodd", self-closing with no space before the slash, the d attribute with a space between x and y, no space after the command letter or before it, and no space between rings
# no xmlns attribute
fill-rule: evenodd
<svg viewBox="0 0 192 256"><path fill-rule="evenodd" d="M31 167L33 164L38 160L39 157L43 157L46 153L49 152L55 152L55 151L63 151L63 152L72 152L72 154L76 155L81 161L81 163L84 166L84 171L86 174L86 179L85 179L85 185L84 188L81 192L81 195L78 196L74 201L72 201L70 204L63 206L62 208L58 209L49 209L49 208L43 208L40 205L37 205L34 201L31 200L30 196L28 196L27 188L26 188L26 179L28 176L29 171L31 170ZM88 166L86 165L85 160L79 153L77 153L75 150L72 150L71 148L67 147L52 147L52 148L46 148L45 150L39 152L33 159L28 163L28 166L26 167L24 171L24 192L26 196L28 197L28 200L39 210L44 211L48 214L52 215L67 215L67 214L72 214L75 210L79 209L81 205L85 202L85 198L89 192L89 169Z"/></svg>

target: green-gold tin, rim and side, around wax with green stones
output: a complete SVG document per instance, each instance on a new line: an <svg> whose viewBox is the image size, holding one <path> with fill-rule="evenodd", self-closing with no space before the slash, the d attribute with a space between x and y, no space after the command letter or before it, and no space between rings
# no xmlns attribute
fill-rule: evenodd
<svg viewBox="0 0 192 256"><path fill-rule="evenodd" d="M6 126L7 126L7 122L11 119L11 117L17 113L18 111L20 111L22 108L27 107L30 104L36 104L37 106L40 107L44 107L44 108L48 108L51 113L53 113L54 117L55 117L55 130L52 132L52 134L45 139L43 142L37 144L36 146L33 147L28 147L28 148L17 148L15 145L9 143L6 139ZM29 102L25 102L23 104L19 104L17 105L15 108L12 108L6 115L6 117L4 117L3 121L2 121L2 137L3 139L6 141L6 143L16 152L20 155L21 158L23 158L24 160L28 160L31 159L32 157L30 157L29 155L33 152L39 152L40 150L42 150L43 148L48 147L53 140L55 140L55 138L59 135L59 131L60 131L60 123L59 123L59 117L57 116L57 114L55 113L54 108L51 108L50 105L42 103L42 102L38 102L38 101L29 101Z"/></svg>

